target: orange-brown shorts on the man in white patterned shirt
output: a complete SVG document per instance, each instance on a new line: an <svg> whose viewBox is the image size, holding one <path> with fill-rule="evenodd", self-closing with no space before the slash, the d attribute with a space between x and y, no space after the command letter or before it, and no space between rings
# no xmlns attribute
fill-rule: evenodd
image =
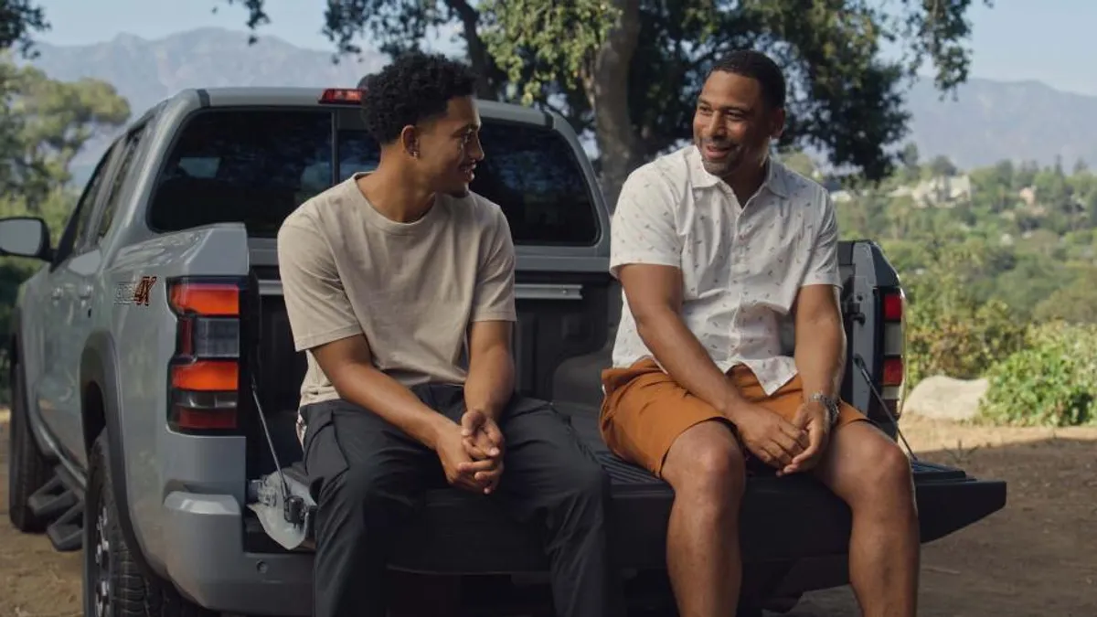
<svg viewBox="0 0 1097 617"><path fill-rule="evenodd" d="M754 371L738 364L728 372L743 397L792 420L803 403L800 375L767 396ZM624 369L602 371L599 427L602 439L618 457L642 465L661 478L663 462L678 436L695 424L724 419L712 405L689 393L655 360L644 358ZM852 405L841 402L835 428L868 419ZM747 452L744 452L747 453Z"/></svg>

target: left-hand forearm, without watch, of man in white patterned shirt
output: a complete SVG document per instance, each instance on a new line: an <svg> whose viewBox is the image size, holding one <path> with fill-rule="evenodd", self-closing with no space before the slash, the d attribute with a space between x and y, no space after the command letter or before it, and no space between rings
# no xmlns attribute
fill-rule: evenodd
<svg viewBox="0 0 1097 617"><path fill-rule="evenodd" d="M640 338L679 385L734 422L744 399L670 308L636 317Z"/></svg>

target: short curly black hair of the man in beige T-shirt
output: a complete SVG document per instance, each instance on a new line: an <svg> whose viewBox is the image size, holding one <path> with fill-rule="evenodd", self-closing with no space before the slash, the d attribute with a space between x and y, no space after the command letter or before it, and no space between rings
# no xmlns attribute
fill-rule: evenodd
<svg viewBox="0 0 1097 617"><path fill-rule="evenodd" d="M405 126L444 114L450 99L472 96L475 86L471 68L442 54L403 54L359 82L366 131L391 144Z"/></svg>

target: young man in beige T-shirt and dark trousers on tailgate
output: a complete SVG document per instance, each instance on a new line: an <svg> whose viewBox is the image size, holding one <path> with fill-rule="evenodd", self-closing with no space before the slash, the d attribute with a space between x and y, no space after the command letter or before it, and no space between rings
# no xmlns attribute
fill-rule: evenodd
<svg viewBox="0 0 1097 617"><path fill-rule="evenodd" d="M308 358L317 617L385 615L394 529L446 482L544 521L557 615L610 613L608 478L563 416L514 396L514 249L499 206L468 189L484 157L473 86L464 66L421 54L371 77L380 165L279 233Z"/></svg>

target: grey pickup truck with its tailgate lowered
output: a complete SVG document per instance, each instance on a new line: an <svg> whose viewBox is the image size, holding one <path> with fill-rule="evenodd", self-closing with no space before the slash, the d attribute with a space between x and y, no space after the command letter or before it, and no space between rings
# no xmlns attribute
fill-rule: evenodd
<svg viewBox="0 0 1097 617"><path fill-rule="evenodd" d="M297 204L376 165L358 92L193 89L144 113L94 169L60 238L0 221L0 251L39 259L12 330L10 516L83 549L86 614L307 615L315 504L295 435L305 359L293 349L275 233ZM609 210L559 116L483 102L473 189L502 205L518 250L518 388L566 412L612 476L612 547L634 615L672 614L668 485L611 456L598 370L619 314ZM842 394L893 437L903 293L871 242L841 245L849 367ZM1005 505L1006 486L912 459L932 541ZM807 478L751 476L744 612L841 585L850 516ZM811 525L782 517L811 512ZM540 613L535 530L440 490L392 568L452 575L463 615ZM539 591L540 590L540 591Z"/></svg>

